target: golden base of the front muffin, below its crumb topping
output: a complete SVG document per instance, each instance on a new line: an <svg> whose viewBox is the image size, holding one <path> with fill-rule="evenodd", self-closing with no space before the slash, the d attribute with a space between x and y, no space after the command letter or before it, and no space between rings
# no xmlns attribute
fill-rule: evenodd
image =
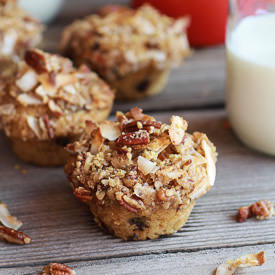
<svg viewBox="0 0 275 275"><path fill-rule="evenodd" d="M101 205L96 199L89 203L95 222L104 230L124 240L157 239L178 231L187 221L195 201L186 200L177 208L155 209L133 213L116 201Z"/></svg>

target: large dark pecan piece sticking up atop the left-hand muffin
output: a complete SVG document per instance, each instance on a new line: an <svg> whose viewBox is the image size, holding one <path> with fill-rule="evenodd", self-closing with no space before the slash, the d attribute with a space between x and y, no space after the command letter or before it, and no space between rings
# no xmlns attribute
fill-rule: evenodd
<svg viewBox="0 0 275 275"><path fill-rule="evenodd" d="M28 50L25 54L26 63L38 74L47 72L45 56L39 50Z"/></svg>

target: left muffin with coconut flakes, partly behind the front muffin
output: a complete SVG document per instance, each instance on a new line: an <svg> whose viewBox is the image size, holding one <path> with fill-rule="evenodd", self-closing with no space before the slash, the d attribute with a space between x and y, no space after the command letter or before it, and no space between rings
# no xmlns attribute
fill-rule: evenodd
<svg viewBox="0 0 275 275"><path fill-rule="evenodd" d="M0 120L14 152L37 165L62 165L64 146L77 139L86 120L110 113L114 92L85 65L28 50L14 79L7 81Z"/></svg>

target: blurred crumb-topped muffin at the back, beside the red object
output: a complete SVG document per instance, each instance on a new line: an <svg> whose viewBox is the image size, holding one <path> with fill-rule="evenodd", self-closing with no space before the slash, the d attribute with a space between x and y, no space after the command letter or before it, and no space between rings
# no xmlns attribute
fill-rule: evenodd
<svg viewBox="0 0 275 275"><path fill-rule="evenodd" d="M139 99L161 92L171 68L190 54L187 25L186 18L172 19L149 5L107 6L67 27L61 50L95 70L118 99Z"/></svg>

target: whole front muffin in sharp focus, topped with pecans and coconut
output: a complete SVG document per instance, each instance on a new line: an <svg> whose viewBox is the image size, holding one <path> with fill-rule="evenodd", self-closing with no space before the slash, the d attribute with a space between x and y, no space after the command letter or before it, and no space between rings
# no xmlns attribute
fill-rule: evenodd
<svg viewBox="0 0 275 275"><path fill-rule="evenodd" d="M165 124L137 107L116 117L87 121L80 140L67 146L74 195L124 240L172 234L214 184L215 147L205 134L186 133L182 117Z"/></svg>

